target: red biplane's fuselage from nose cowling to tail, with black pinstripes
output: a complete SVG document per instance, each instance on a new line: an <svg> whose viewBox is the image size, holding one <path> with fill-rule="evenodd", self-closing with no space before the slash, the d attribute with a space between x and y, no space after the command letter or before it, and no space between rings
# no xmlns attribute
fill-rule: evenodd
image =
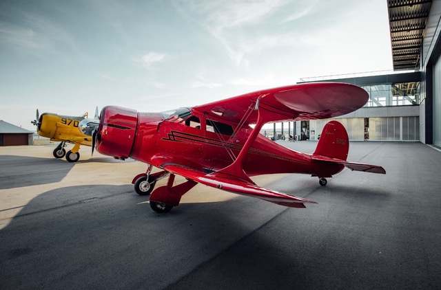
<svg viewBox="0 0 441 290"><path fill-rule="evenodd" d="M229 166L240 153L252 127L208 118L194 109L172 113L138 113L121 107L105 107L101 113L96 149L104 155L130 157L162 168L179 164L189 169L214 172ZM311 155L298 153L259 134L243 162L249 176L273 173L305 173L331 177L340 164L317 164Z"/></svg>

